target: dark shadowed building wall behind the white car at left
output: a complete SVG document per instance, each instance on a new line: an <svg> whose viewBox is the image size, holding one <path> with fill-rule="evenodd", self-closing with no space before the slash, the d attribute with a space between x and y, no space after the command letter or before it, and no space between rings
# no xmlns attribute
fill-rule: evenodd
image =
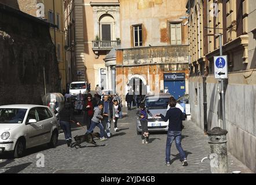
<svg viewBox="0 0 256 185"><path fill-rule="evenodd" d="M0 3L0 104L40 104L60 88L50 24L15 8Z"/></svg>

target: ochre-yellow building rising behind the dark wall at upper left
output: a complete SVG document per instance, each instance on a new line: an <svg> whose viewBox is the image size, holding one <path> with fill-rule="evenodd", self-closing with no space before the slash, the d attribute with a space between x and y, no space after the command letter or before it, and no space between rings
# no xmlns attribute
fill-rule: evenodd
<svg viewBox="0 0 256 185"><path fill-rule="evenodd" d="M14 0L9 2L17 2L17 6L13 6L21 10L21 12L30 14L31 16L42 18L42 20L50 23L50 35L52 42L56 46L56 57L58 61L58 69L60 76L60 90L65 90L67 84L66 60L65 60L65 31L64 31L64 4L63 0Z"/></svg>

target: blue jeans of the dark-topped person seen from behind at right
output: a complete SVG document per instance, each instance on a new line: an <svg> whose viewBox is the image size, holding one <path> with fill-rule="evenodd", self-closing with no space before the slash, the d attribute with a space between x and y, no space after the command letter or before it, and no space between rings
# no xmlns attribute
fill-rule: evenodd
<svg viewBox="0 0 256 185"><path fill-rule="evenodd" d="M168 131L166 140L166 162L170 162L171 143L173 143L174 139L176 148L180 153L181 161L183 161L186 158L185 152L181 147L181 131Z"/></svg>

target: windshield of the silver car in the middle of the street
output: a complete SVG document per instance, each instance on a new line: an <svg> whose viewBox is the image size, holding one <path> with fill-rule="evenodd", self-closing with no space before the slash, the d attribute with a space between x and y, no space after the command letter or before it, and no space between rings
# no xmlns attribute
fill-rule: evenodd
<svg viewBox="0 0 256 185"><path fill-rule="evenodd" d="M167 109L169 98L147 98L145 105L148 109Z"/></svg>

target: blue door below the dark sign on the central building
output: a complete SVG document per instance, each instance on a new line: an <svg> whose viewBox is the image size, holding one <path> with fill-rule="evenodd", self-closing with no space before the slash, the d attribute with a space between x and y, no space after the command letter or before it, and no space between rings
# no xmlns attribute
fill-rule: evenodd
<svg viewBox="0 0 256 185"><path fill-rule="evenodd" d="M169 92L175 99L185 94L185 81L164 81L164 92Z"/></svg>

